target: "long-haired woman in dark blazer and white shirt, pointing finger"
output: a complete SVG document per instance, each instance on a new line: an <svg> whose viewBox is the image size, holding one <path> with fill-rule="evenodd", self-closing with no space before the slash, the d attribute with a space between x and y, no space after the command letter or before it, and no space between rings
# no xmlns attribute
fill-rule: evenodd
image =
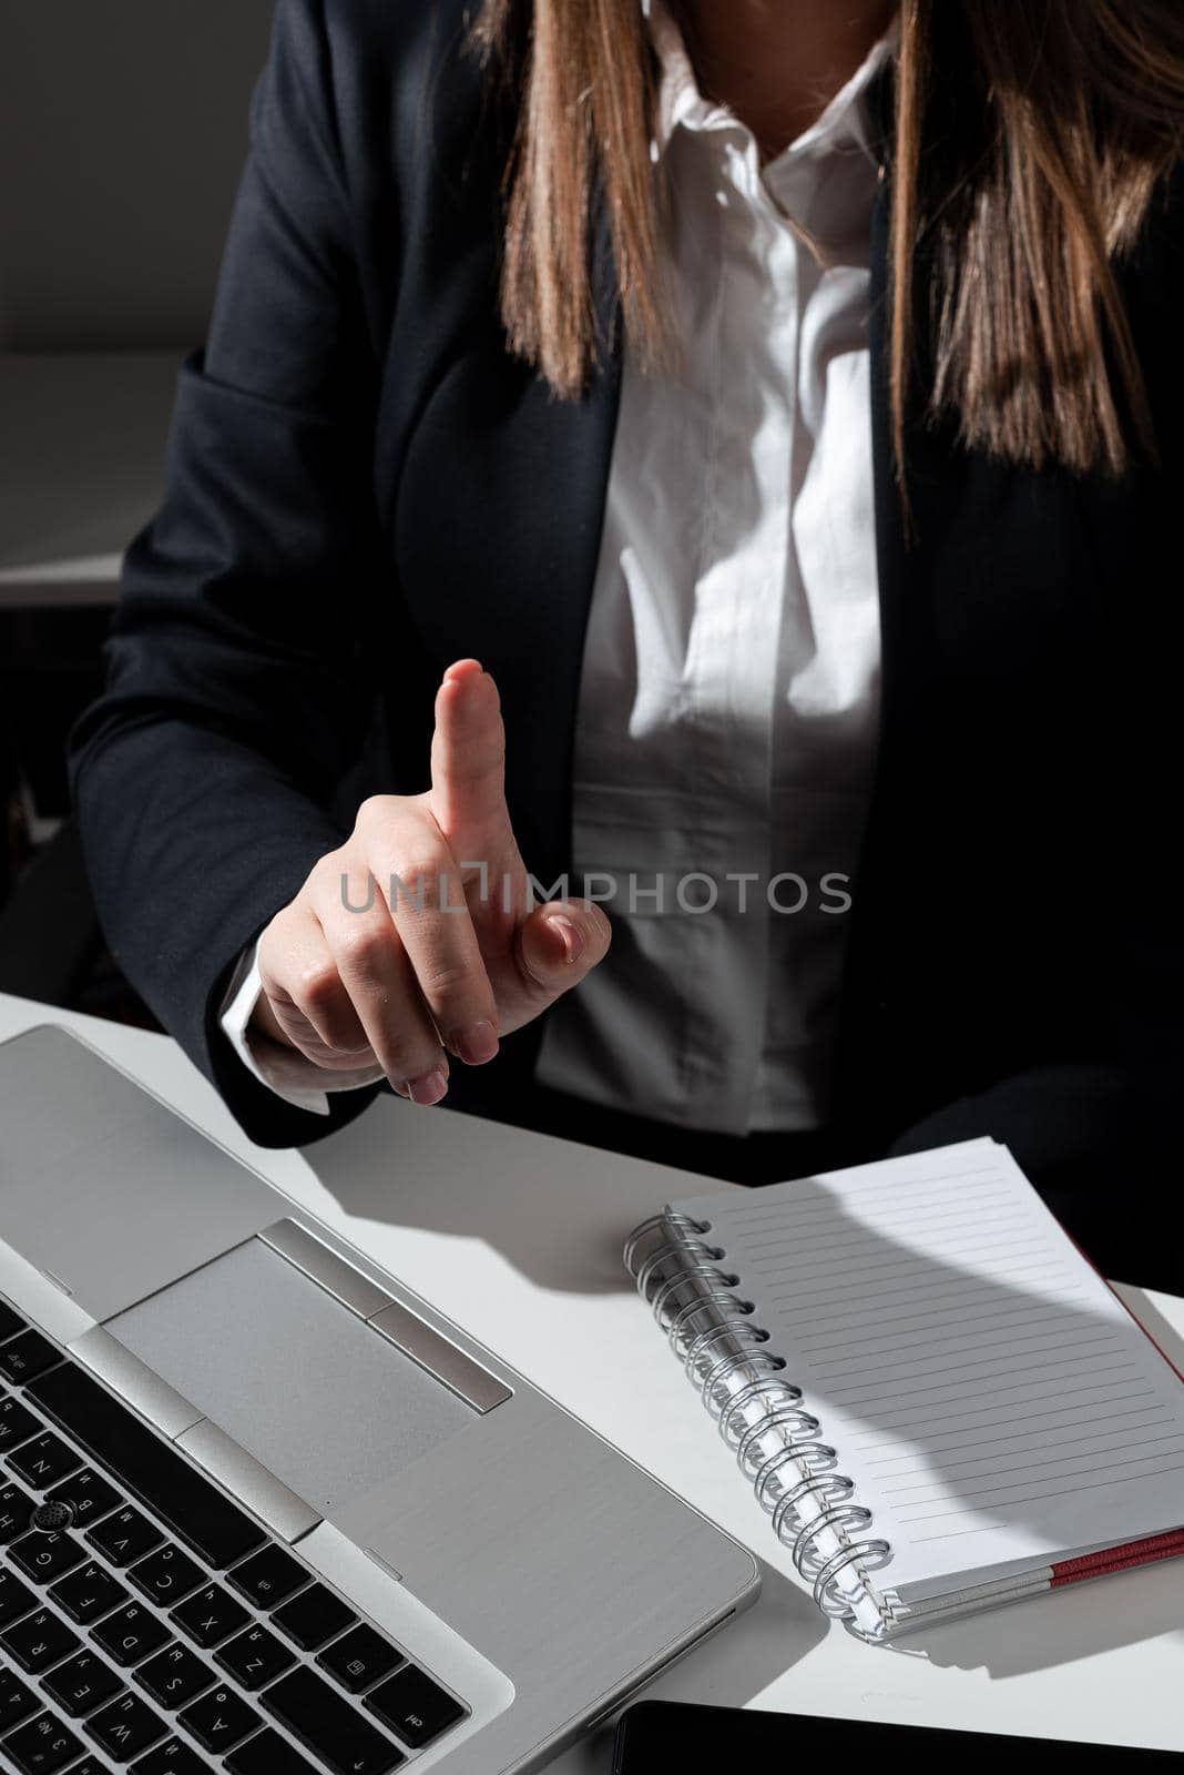
<svg viewBox="0 0 1184 1775"><path fill-rule="evenodd" d="M1165 0L280 0L73 746L255 1140L991 1134L1166 1280L1182 126Z"/></svg>

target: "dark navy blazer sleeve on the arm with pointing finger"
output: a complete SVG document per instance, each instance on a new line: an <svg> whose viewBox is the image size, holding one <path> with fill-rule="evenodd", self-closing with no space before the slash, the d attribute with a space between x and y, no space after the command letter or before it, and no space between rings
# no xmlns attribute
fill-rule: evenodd
<svg viewBox="0 0 1184 1775"><path fill-rule="evenodd" d="M239 953L335 848L397 600L374 502L378 348L319 0L280 0L167 493L133 543L108 682L71 735L99 918L135 989L261 1145L353 1118L282 1102L218 1028ZM369 295L369 293L367 293ZM390 651L383 671L397 680Z"/></svg>

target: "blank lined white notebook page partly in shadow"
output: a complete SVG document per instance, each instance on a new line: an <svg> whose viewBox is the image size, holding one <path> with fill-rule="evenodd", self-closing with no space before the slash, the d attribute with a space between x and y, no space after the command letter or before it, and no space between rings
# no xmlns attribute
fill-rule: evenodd
<svg viewBox="0 0 1184 1775"><path fill-rule="evenodd" d="M892 1541L884 1589L1184 1523L1184 1384L1005 1147L675 1205Z"/></svg>

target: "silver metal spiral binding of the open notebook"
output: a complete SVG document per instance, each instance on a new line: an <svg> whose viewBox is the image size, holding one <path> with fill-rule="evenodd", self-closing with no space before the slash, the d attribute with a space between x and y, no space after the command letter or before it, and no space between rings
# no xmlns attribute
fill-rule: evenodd
<svg viewBox="0 0 1184 1775"><path fill-rule="evenodd" d="M801 1388L785 1379L783 1358L767 1349L769 1333L755 1322L752 1301L736 1292L741 1278L723 1267L727 1251L707 1242L709 1232L709 1221L675 1209L652 1214L626 1242L626 1267L752 1480L757 1502L773 1518L773 1534L812 1585L814 1601L860 1637L870 1637L854 1626L853 1603L838 1580L853 1571L888 1626L892 1612L870 1590L867 1576L892 1558L892 1546L865 1534L872 1512L854 1502L854 1480L837 1471L835 1448L822 1440L817 1416L806 1411ZM746 1411L757 1404L764 1409L748 1422ZM775 1454L762 1448L769 1432L780 1441ZM805 1500L815 1511L808 1518L799 1511ZM840 1544L830 1557L817 1550L824 1530Z"/></svg>

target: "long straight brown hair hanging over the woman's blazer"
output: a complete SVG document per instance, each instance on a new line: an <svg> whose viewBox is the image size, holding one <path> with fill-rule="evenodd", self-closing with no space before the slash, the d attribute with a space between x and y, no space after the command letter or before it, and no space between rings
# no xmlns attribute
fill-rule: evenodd
<svg viewBox="0 0 1184 1775"><path fill-rule="evenodd" d="M661 362L656 69L640 0L486 0L475 37L518 106L502 261L510 348L560 396L587 385L603 344L603 206L631 348ZM1115 266L1182 156L1179 0L902 0L888 243L899 469L918 311L922 412L954 417L962 442L1120 474L1133 431L1154 458Z"/></svg>

